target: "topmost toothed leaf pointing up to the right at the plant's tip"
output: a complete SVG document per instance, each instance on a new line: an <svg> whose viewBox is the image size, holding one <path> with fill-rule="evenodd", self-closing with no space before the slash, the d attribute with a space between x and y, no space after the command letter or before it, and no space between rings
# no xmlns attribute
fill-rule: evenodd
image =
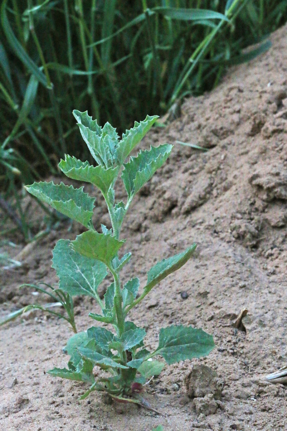
<svg viewBox="0 0 287 431"><path fill-rule="evenodd" d="M115 159L119 165L123 164L127 156L142 140L157 118L159 118L157 115L151 117L147 115L144 121L139 123L136 121L134 127L123 134L123 139L115 151Z"/></svg>

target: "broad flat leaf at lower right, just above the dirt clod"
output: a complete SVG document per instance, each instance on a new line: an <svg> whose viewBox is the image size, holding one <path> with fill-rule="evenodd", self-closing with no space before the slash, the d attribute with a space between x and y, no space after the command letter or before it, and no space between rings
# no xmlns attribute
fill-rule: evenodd
<svg viewBox="0 0 287 431"><path fill-rule="evenodd" d="M159 343L155 353L163 356L170 365L185 359L207 356L213 347L212 335L202 329L172 325L160 329Z"/></svg>

